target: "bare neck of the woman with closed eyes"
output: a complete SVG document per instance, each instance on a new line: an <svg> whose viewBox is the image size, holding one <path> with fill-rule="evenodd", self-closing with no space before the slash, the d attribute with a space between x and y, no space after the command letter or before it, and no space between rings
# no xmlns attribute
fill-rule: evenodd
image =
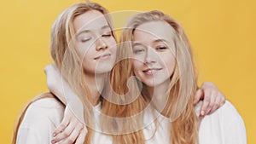
<svg viewBox="0 0 256 144"><path fill-rule="evenodd" d="M90 90L90 102L96 106L100 102L100 96L104 86L105 74L86 75L85 82Z"/></svg>

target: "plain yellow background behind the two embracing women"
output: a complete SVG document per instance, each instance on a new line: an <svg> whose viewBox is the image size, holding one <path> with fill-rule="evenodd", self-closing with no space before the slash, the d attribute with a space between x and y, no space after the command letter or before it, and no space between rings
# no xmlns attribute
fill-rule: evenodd
<svg viewBox="0 0 256 144"><path fill-rule="evenodd" d="M12 0L0 5L0 143L10 143L15 118L47 90L49 32L74 0ZM195 49L200 84L212 81L241 113L248 144L256 142L256 1L95 0L117 10L160 9L184 27ZM254 135L253 135L254 134Z"/></svg>

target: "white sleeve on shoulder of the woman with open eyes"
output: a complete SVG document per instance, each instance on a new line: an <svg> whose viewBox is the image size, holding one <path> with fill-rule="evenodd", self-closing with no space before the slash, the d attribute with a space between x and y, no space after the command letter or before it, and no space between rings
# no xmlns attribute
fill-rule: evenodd
<svg viewBox="0 0 256 144"><path fill-rule="evenodd" d="M199 140L200 144L247 144L243 120L229 101L202 118Z"/></svg>

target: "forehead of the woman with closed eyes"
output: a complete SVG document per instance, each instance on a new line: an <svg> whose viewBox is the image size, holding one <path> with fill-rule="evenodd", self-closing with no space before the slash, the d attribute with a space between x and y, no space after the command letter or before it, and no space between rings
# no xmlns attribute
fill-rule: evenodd
<svg viewBox="0 0 256 144"><path fill-rule="evenodd" d="M78 32L80 30L101 29L102 26L108 26L108 22L101 12L97 10L90 10L77 16L73 20L73 25L75 32Z"/></svg>

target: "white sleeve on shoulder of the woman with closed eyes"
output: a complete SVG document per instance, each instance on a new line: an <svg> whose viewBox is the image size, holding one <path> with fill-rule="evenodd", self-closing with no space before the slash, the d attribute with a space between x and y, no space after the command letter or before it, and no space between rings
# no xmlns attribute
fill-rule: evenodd
<svg viewBox="0 0 256 144"><path fill-rule="evenodd" d="M20 124L16 144L50 144L63 110L64 107L52 98L33 102Z"/></svg>

